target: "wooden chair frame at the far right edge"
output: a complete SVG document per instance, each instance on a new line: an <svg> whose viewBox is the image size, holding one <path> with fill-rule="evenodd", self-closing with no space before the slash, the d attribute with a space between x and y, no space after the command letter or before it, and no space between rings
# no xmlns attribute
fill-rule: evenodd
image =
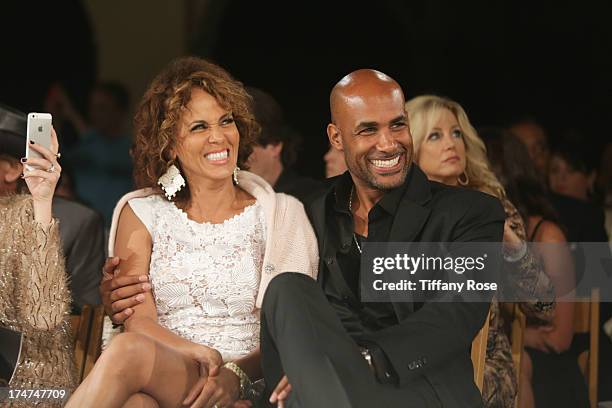
<svg viewBox="0 0 612 408"><path fill-rule="evenodd" d="M591 290L591 299L574 306L574 333L588 333L589 348L578 356L578 366L587 383L591 408L597 407L597 359L599 355L599 288Z"/></svg>

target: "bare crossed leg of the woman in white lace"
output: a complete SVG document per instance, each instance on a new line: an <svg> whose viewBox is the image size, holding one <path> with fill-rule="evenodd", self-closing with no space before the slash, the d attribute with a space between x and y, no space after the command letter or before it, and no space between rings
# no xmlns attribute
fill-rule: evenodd
<svg viewBox="0 0 612 408"><path fill-rule="evenodd" d="M178 405L199 378L198 364L153 338L117 336L68 401L72 407L122 407L134 394L160 407Z"/></svg>

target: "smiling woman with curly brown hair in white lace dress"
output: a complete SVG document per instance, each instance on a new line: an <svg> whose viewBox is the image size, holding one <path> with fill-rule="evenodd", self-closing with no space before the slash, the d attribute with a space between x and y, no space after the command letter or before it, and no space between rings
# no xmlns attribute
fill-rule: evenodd
<svg viewBox="0 0 612 408"><path fill-rule="evenodd" d="M258 125L242 84L199 58L172 62L135 117L141 190L115 209L109 249L141 297L68 407L226 407L261 378L259 308L283 271L315 277L296 199L240 171ZM148 275L148 278L147 278Z"/></svg>

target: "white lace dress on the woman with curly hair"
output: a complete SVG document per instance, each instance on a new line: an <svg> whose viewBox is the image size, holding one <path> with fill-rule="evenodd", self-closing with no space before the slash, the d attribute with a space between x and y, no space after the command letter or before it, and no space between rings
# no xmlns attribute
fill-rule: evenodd
<svg viewBox="0 0 612 408"><path fill-rule="evenodd" d="M200 224L159 195L129 204L153 241L149 276L159 323L215 348L225 361L255 349L266 236L262 207L255 203L221 224Z"/></svg>

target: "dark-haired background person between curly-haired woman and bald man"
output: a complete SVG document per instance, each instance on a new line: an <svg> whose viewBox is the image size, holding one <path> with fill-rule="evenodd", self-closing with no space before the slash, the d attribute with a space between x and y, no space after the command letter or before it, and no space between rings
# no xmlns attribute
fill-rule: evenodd
<svg viewBox="0 0 612 408"><path fill-rule="evenodd" d="M300 176L293 169L301 143L300 136L285 122L279 103L258 88L247 87L253 98L255 120L261 134L247 161L248 170L266 180L277 193L286 193L304 202L322 184Z"/></svg>

